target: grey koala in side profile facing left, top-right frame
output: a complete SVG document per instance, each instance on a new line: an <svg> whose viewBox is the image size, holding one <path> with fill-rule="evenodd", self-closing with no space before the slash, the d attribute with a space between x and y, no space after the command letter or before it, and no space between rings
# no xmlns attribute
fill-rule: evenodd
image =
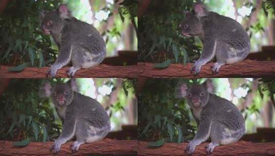
<svg viewBox="0 0 275 156"><path fill-rule="evenodd" d="M191 72L197 74L214 56L217 62L213 73L225 64L243 61L250 52L250 38L243 26L234 19L210 12L202 4L195 4L192 12L185 12L179 25L183 36L198 36L203 42L203 52Z"/></svg>

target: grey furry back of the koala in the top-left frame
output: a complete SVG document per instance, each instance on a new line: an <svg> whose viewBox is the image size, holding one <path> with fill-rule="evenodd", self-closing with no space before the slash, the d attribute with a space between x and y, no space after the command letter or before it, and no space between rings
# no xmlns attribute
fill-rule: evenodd
<svg viewBox="0 0 275 156"><path fill-rule="evenodd" d="M72 40L74 44L93 50L93 53L106 52L105 41L95 27L76 18L69 19L64 24L61 38Z"/></svg>

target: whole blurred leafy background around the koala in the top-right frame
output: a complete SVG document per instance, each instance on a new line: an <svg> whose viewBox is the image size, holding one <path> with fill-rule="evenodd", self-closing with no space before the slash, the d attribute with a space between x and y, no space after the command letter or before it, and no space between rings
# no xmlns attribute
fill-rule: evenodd
<svg viewBox="0 0 275 156"><path fill-rule="evenodd" d="M267 53L264 58L261 58L264 54L259 53L248 59L275 59L272 53L275 49L273 0L144 0L139 4L138 61L162 63L156 67L163 68L171 63L186 64L198 59L203 44L198 37L183 37L178 28L185 18L184 11L191 11L197 2L241 23L251 38L251 52Z"/></svg>

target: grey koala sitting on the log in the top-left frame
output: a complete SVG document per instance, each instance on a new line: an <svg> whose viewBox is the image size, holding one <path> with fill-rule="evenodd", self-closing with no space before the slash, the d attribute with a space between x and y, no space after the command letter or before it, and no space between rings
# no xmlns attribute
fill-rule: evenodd
<svg viewBox="0 0 275 156"><path fill-rule="evenodd" d="M71 15L66 5L54 11L42 11L42 30L51 35L59 49L56 62L50 67L48 76L71 63L67 71L74 76L76 71L99 65L106 56L106 45L101 34L93 26L79 21Z"/></svg>

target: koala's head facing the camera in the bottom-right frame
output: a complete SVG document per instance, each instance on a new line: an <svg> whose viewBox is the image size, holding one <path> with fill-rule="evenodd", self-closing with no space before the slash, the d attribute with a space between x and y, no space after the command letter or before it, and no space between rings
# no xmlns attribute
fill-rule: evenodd
<svg viewBox="0 0 275 156"><path fill-rule="evenodd" d="M175 94L177 97L184 97L191 108L203 108L209 101L209 94L214 94L214 86L211 80L207 80L201 85L188 87L180 84Z"/></svg>

